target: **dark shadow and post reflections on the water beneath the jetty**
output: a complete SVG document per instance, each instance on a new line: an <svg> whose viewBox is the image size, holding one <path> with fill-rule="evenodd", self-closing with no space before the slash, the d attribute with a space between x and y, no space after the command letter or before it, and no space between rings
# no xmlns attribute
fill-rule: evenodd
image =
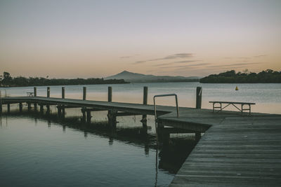
<svg viewBox="0 0 281 187"><path fill-rule="evenodd" d="M125 144L144 148L145 155L149 155L150 149L153 149L156 151L155 186L157 186L157 170L164 169L171 174L176 174L197 143L195 139L191 137L172 137L168 140L168 144L160 144L157 148L155 135L145 133L146 131L143 130L143 127L111 128L107 122L88 124L82 123L81 118L77 116L59 118L53 113L46 115L31 111L11 111L10 113L2 114L0 125L4 125L4 118L8 117L33 118L35 124L37 124L37 120L45 120L48 127L56 123L62 126L63 132L66 132L67 128L71 128L84 132L85 138L87 138L89 134L105 137L108 139L109 145L114 144L114 141L122 141ZM155 151L153 151L153 153L155 153Z"/></svg>

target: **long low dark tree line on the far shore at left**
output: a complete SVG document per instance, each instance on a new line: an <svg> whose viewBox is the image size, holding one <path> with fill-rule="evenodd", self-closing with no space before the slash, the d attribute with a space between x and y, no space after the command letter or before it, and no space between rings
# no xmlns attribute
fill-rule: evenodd
<svg viewBox="0 0 281 187"><path fill-rule="evenodd" d="M40 85L93 85L93 84L123 84L128 83L124 79L108 79L103 78L43 78L43 77L11 77L8 72L4 72L0 76L1 87L15 86L40 86Z"/></svg>

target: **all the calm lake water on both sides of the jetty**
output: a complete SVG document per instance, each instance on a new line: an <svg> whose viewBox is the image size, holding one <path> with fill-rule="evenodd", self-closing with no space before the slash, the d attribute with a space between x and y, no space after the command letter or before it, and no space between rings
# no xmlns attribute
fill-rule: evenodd
<svg viewBox="0 0 281 187"><path fill-rule="evenodd" d="M65 97L81 99L83 86L65 86ZM196 87L202 86L202 108L211 109L214 100L255 102L254 112L281 113L281 84L86 85L87 99L106 101L107 86L114 102L142 103L143 86L148 86L149 104L153 95L176 93L180 106L194 107ZM25 96L33 87L1 90ZM46 96L46 87L37 87L37 95ZM61 97L61 86L51 86L51 97ZM159 98L157 104L174 105L174 98ZM157 150L150 135L153 116L148 116L148 135L142 136L140 116L118 117L117 131L108 132L102 128L106 112L94 112L93 124L85 125L79 122L80 109L66 109L64 121L19 114L18 104L11 109L0 117L0 186L169 186L195 145L192 136L174 134L173 146ZM51 110L56 113L55 107Z"/></svg>

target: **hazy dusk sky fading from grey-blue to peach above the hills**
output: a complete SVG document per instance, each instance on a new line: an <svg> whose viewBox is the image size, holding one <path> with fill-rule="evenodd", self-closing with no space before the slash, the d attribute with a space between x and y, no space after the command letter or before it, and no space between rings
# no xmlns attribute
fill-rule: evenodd
<svg viewBox="0 0 281 187"><path fill-rule="evenodd" d="M281 1L3 1L0 73L281 71Z"/></svg>

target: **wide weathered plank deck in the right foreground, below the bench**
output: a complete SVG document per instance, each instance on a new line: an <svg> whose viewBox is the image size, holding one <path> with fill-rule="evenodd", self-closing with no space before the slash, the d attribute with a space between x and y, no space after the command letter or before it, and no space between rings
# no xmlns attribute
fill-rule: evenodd
<svg viewBox="0 0 281 187"><path fill-rule="evenodd" d="M170 186L281 186L281 116L212 124Z"/></svg>

